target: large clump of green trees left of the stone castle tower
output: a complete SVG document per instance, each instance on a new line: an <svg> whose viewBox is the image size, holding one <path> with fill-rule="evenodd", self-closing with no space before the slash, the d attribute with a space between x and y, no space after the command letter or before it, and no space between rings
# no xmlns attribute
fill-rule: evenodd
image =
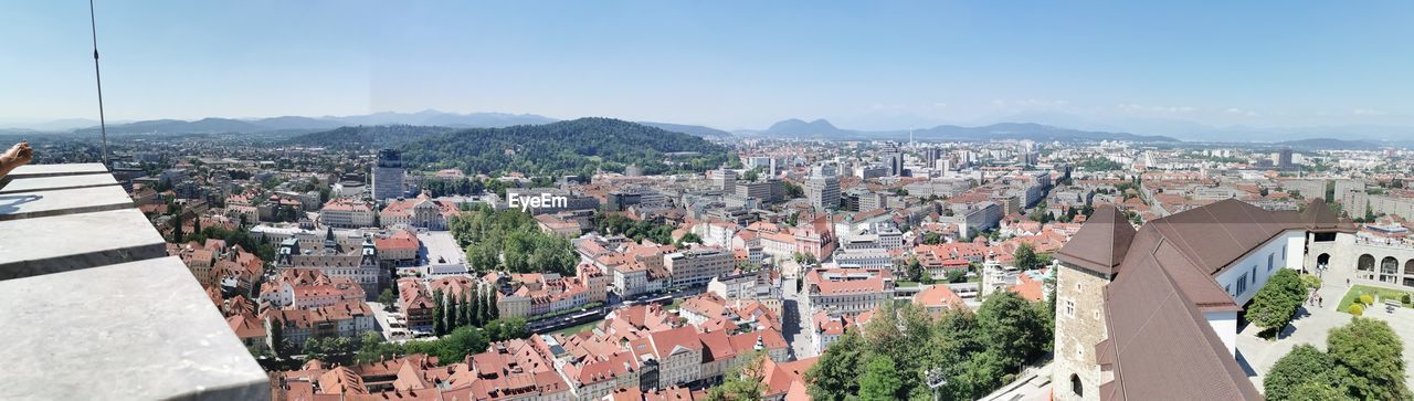
<svg viewBox="0 0 1414 401"><path fill-rule="evenodd" d="M976 400L1042 357L1051 347L1046 305L995 292L976 313L932 316L885 302L863 328L851 328L806 371L813 400L933 400L930 376L946 380L942 400ZM863 371L861 371L863 367Z"/></svg>

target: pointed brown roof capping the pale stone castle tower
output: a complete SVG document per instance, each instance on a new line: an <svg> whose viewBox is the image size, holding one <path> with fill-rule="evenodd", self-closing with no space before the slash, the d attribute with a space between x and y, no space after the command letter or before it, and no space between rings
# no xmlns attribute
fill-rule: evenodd
<svg viewBox="0 0 1414 401"><path fill-rule="evenodd" d="M1056 256L1060 261L1109 277L1118 273L1133 239L1134 226L1128 219L1114 206L1100 206Z"/></svg>

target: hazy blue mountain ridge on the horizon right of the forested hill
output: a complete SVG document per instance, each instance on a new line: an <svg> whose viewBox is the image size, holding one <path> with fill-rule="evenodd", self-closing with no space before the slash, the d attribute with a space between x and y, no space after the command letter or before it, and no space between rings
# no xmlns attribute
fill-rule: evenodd
<svg viewBox="0 0 1414 401"><path fill-rule="evenodd" d="M1083 131L1060 128L1032 123L998 123L981 127L936 126L921 130L892 130L892 131L857 131L846 130L830 124L827 120L805 121L789 119L772 124L761 131L737 131L747 136L762 137L799 137L822 140L946 140L946 141L986 141L986 140L1035 140L1035 141L1137 141L1137 143L1176 143L1172 137L1137 136L1130 133Z"/></svg>

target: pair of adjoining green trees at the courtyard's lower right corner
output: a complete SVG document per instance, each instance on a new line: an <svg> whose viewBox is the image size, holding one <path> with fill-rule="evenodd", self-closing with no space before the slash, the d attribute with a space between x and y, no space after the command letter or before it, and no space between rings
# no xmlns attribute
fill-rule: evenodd
<svg viewBox="0 0 1414 401"><path fill-rule="evenodd" d="M1410 400L1404 342L1369 318L1331 329L1326 350L1298 345L1263 378L1267 400Z"/></svg>

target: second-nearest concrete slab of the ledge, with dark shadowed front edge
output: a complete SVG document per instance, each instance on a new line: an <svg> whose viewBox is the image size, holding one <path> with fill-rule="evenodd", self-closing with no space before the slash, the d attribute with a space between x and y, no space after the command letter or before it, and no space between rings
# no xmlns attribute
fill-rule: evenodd
<svg viewBox="0 0 1414 401"><path fill-rule="evenodd" d="M163 236L137 209L0 220L0 280L164 256Z"/></svg>

